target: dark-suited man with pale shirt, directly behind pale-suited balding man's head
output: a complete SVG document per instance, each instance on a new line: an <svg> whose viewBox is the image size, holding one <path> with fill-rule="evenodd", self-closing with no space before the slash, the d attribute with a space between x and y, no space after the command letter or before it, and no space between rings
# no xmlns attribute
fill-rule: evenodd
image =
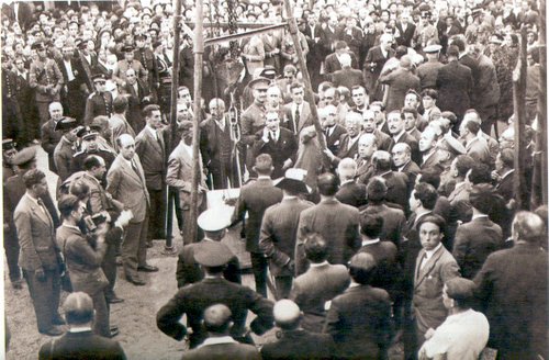
<svg viewBox="0 0 549 360"><path fill-rule="evenodd" d="M148 83L138 79L135 70L126 70L126 81L121 87L121 93L127 94L127 120L136 132L141 132L145 126L143 110L147 104L155 102Z"/></svg>

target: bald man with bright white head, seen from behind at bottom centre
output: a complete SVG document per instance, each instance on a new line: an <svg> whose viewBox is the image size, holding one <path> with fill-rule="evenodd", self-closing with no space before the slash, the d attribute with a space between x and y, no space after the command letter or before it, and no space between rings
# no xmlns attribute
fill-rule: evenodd
<svg viewBox="0 0 549 360"><path fill-rule="evenodd" d="M334 340L326 334L314 334L301 328L300 307L291 300L281 300L272 310L274 322L282 330L277 341L261 347L261 359L332 359Z"/></svg>

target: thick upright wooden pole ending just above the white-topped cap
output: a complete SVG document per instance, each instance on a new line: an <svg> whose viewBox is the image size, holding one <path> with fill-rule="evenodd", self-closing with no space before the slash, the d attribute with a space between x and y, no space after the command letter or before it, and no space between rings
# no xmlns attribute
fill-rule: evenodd
<svg viewBox="0 0 549 360"><path fill-rule="evenodd" d="M199 183L201 177L200 167L200 122L201 122L201 100L202 100L202 57L204 55L204 26L203 24L203 0L195 2L197 24L194 26L194 126L192 130L192 188L191 188L191 216L190 224L184 226L190 227L190 239L187 241L194 243L197 238L197 217L198 217L198 199Z"/></svg>

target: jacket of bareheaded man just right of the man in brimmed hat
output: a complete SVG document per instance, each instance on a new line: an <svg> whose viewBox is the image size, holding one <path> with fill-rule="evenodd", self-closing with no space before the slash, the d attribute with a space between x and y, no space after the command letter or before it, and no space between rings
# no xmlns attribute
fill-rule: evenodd
<svg viewBox="0 0 549 360"><path fill-rule="evenodd" d="M360 247L358 222L358 209L341 204L337 199L326 199L304 210L300 216L295 244L295 274L307 269L303 241L311 233L318 233L326 240L329 263L347 263Z"/></svg>

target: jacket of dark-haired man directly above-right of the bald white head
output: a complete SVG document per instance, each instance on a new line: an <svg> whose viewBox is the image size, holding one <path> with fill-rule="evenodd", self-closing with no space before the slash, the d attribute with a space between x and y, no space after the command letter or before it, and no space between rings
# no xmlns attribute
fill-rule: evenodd
<svg viewBox="0 0 549 360"><path fill-rule="evenodd" d="M304 329L321 333L326 318L325 303L343 293L350 283L347 268L325 262L311 267L293 280L290 299L303 312Z"/></svg>

